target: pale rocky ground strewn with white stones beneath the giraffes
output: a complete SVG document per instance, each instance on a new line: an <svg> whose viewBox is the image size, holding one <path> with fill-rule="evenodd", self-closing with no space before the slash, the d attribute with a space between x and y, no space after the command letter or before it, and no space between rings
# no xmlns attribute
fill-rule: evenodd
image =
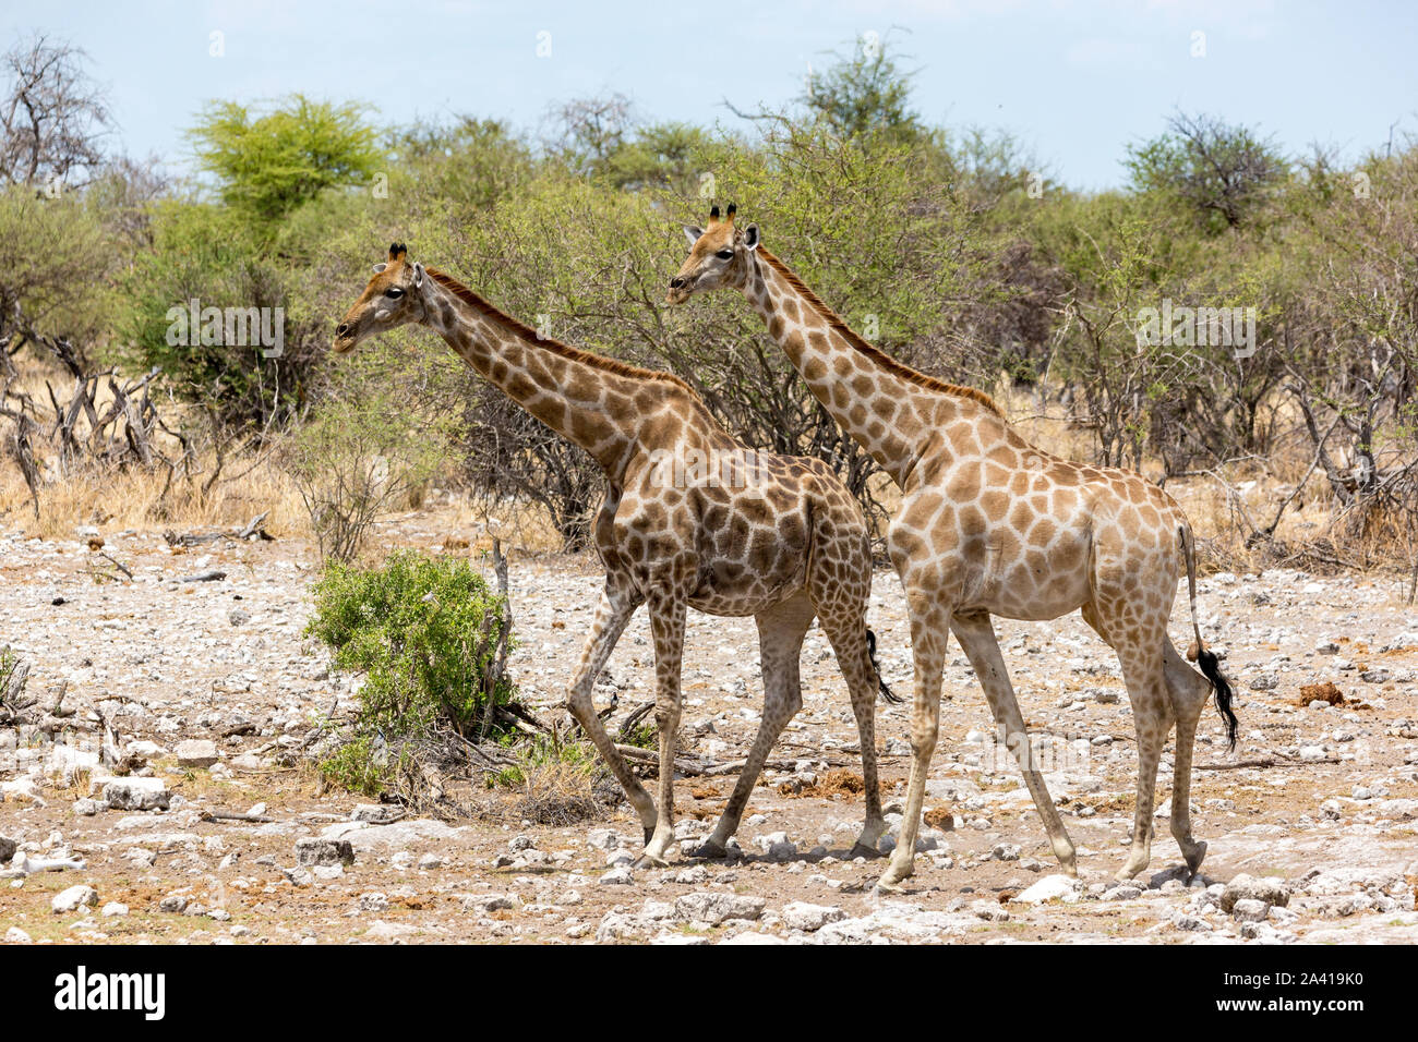
<svg viewBox="0 0 1418 1042"><path fill-rule="evenodd" d="M432 550L457 534L471 537L414 516L386 526L381 539ZM94 536L132 578L91 549ZM804 651L803 712L774 750L781 770L754 792L739 856L700 863L676 849L671 868L644 870L631 866L640 825L624 802L567 828L516 818L390 821L397 808L316 795L309 770L282 766L316 720L352 699L350 679L332 675L326 652L302 638L309 561L309 549L289 542L183 550L149 532L81 532L69 542L0 532L0 644L31 665L27 690L48 710L34 723L0 726L0 937L1418 940L1418 615L1397 581L1288 570L1202 580L1204 632L1228 654L1242 741L1228 756L1208 709L1193 804L1210 853L1190 883L1166 825L1170 753L1153 865L1133 883L1112 879L1136 785L1116 659L1076 615L1001 621L1020 702L1052 768L1049 788L1079 845L1081 879L1056 875L1038 815L957 656L946 673L925 849L906 892L879 897L872 883L882 862L847 859L862 801L830 784L845 777L830 773L858 767L856 734L818 631ZM224 577L189 581L211 571ZM510 581L522 641L515 676L523 698L552 715L598 576L583 559L513 554ZM886 679L909 692L905 605L889 570L876 574L871 615ZM1184 646L1184 598L1174 618ZM617 689L617 716L649 698L649 658L641 615L598 689ZM757 710L752 620L692 618L688 751L720 763L740 757ZM889 805L905 788L908 717L909 706L878 715ZM106 777L113 760L130 773ZM710 828L732 781L679 781L682 839Z"/></svg>

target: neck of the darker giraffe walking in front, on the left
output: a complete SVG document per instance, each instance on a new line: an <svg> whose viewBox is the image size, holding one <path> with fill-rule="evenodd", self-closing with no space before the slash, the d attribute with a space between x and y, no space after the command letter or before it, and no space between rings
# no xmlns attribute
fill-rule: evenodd
<svg viewBox="0 0 1418 1042"><path fill-rule="evenodd" d="M509 398L580 445L618 482L638 449L640 414L627 407L645 383L630 366L566 347L503 315L471 289L428 269L430 329ZM450 288L452 282L457 289Z"/></svg>

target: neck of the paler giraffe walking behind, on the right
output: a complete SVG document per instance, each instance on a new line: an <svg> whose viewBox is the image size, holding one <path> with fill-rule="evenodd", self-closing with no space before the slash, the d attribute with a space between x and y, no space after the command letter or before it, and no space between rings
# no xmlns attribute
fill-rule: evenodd
<svg viewBox="0 0 1418 1042"><path fill-rule="evenodd" d="M864 352L861 337L804 296L787 265L763 247L750 257L743 295L769 333L838 425L905 488L936 418L951 410L942 410L937 390L913 379L919 373Z"/></svg>

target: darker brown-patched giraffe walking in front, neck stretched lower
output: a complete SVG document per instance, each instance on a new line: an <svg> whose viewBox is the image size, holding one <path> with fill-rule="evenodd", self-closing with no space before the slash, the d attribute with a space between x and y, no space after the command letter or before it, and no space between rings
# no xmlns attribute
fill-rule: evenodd
<svg viewBox="0 0 1418 1042"><path fill-rule="evenodd" d="M566 707L605 758L645 829L638 863L665 865L674 836L675 733L686 608L753 615L763 717L719 822L696 853L723 856L763 763L801 706L798 659L814 618L847 680L862 747L866 819L852 856L876 853L885 831L876 775L875 698L881 680L866 628L872 566L866 520L820 459L754 452L710 415L676 376L545 339L451 275L389 259L335 330L333 350L404 323L438 333L486 380L605 472L594 543L605 586ZM659 727L659 802L605 733L591 688L634 612L649 605Z"/></svg>

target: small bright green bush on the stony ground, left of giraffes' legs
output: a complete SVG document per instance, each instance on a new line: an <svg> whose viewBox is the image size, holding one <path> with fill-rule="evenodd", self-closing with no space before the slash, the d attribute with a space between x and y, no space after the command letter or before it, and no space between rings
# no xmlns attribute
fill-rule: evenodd
<svg viewBox="0 0 1418 1042"><path fill-rule="evenodd" d="M496 712L515 696L498 665L512 646L506 601L468 561L398 551L377 568L330 563L306 632L335 649L336 668L366 675L354 737L322 764L329 780L377 788L393 750L447 729L509 737Z"/></svg>

